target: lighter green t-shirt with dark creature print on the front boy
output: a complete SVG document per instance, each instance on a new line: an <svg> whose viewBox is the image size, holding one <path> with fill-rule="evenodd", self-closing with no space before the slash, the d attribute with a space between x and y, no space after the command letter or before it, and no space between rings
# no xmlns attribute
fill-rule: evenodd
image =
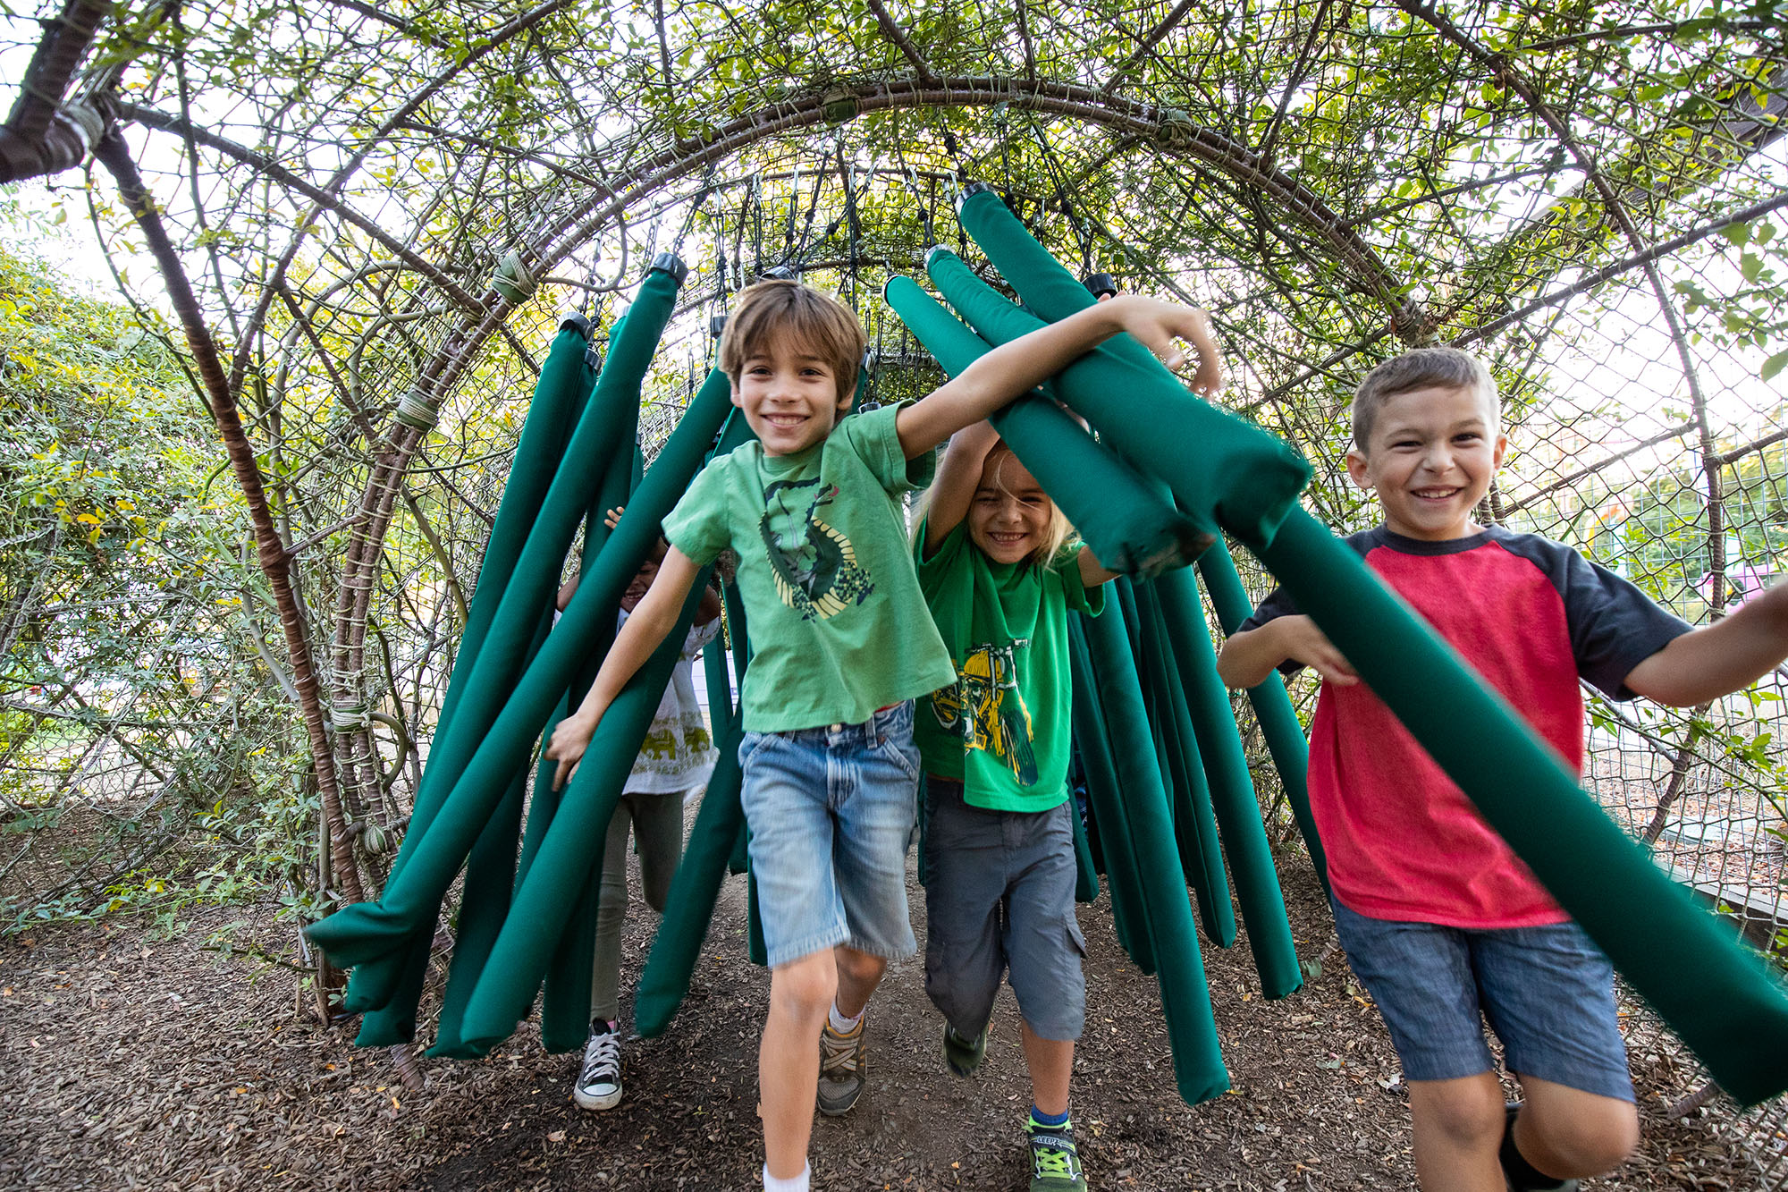
<svg viewBox="0 0 1788 1192"><path fill-rule="evenodd" d="M738 553L749 732L862 723L955 677L899 501L935 462L901 453L898 410L848 417L799 455L744 444L701 469L665 517L665 539L697 564Z"/></svg>

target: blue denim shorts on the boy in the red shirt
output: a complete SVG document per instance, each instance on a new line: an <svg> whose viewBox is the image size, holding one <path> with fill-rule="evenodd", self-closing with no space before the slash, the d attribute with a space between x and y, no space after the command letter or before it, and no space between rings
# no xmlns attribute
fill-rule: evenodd
<svg viewBox="0 0 1788 1192"><path fill-rule="evenodd" d="M1379 1002L1405 1079L1495 1072L1488 1018L1511 1072L1632 1101L1615 970L1577 924L1468 931L1330 906L1348 966Z"/></svg>

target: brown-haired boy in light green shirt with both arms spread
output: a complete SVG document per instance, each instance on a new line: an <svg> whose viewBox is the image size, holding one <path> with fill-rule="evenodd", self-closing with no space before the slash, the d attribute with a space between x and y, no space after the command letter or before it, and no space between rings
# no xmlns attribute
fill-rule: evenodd
<svg viewBox="0 0 1788 1192"><path fill-rule="evenodd" d="M792 281L749 286L721 367L758 442L715 458L665 519L651 591L547 755L558 782L603 712L676 625L701 566L731 548L753 659L740 685L740 802L751 832L771 1008L758 1045L763 1185L806 1192L814 1104L864 1088L864 1006L917 950L905 856L919 755L912 700L955 680L907 549L901 494L932 449L1128 331L1169 363L1205 354L1200 311L1116 299L996 347L942 388L846 419L864 354L856 315Z"/></svg>

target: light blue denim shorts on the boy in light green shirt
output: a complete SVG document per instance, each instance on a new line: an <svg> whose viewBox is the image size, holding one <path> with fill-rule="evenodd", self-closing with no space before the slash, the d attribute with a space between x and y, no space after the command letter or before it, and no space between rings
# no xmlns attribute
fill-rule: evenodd
<svg viewBox="0 0 1788 1192"><path fill-rule="evenodd" d="M738 764L769 966L839 943L887 959L917 952L907 916L912 702L860 725L747 732Z"/></svg>

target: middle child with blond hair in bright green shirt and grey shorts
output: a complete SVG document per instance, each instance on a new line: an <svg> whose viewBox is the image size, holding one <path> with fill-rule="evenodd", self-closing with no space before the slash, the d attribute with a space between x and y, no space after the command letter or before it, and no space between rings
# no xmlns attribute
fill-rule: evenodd
<svg viewBox="0 0 1788 1192"><path fill-rule="evenodd" d="M1200 345L1203 347L1203 344ZM1214 354L1202 351L1205 362ZM1085 1018L1067 793L1067 612L1112 578L992 426L957 431L914 551L957 680L919 702L926 770L924 990L957 1076L987 1052L1010 974L1023 1015L1033 1192L1085 1188L1067 1085Z"/></svg>

